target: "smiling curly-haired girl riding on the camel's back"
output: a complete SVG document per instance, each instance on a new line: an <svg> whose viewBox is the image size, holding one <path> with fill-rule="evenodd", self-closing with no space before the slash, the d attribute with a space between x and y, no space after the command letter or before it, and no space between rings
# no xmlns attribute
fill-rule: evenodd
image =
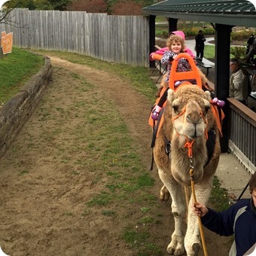
<svg viewBox="0 0 256 256"><path fill-rule="evenodd" d="M167 92L168 92L168 83L169 83L169 75L170 71L172 68L172 61L176 61L178 59L178 54L179 53L184 53L185 49L185 44L184 44L184 39L181 38L179 35L170 35L166 42L168 50L166 50L163 53L161 63L167 65L167 75L165 78L165 83L166 83L166 90L161 96L157 106L154 108L154 111L152 111L151 117L153 120L157 120L158 116L160 114L161 109L163 108L164 102L166 102L167 99ZM187 61L186 58L181 58L178 60L178 66L177 66L177 72L186 72L189 71L190 64ZM182 81L175 81L175 87L178 87L179 84L181 84ZM191 82L191 81L190 81ZM196 81L192 81L195 83Z"/></svg>

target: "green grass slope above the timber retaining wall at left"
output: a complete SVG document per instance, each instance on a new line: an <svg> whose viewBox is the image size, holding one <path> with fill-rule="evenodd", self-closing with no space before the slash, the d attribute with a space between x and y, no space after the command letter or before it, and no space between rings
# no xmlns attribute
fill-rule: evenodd
<svg viewBox="0 0 256 256"><path fill-rule="evenodd" d="M42 56L13 47L12 53L0 59L0 103L11 99L43 65Z"/></svg>

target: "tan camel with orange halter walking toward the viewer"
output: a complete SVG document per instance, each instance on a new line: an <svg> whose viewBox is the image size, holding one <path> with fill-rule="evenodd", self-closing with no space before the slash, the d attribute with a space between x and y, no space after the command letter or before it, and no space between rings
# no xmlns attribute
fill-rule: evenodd
<svg viewBox="0 0 256 256"><path fill-rule="evenodd" d="M204 92L194 84L181 85L175 91L169 89L162 125L157 132L153 151L163 181L160 197L166 200L170 194L175 219L175 230L167 246L169 254L180 255L186 251L194 256L200 250L198 219L191 209L193 197L187 206L184 188L190 188L193 178L197 201L207 204L221 153L210 101L209 91ZM212 154L206 144L212 145ZM169 154L166 154L167 145L170 145Z"/></svg>

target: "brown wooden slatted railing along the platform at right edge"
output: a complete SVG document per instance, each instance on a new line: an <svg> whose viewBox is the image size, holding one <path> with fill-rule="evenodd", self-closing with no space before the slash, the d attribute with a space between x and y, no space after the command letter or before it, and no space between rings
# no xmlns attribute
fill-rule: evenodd
<svg viewBox="0 0 256 256"><path fill-rule="evenodd" d="M256 171L256 113L234 98L228 98L229 148L248 172Z"/></svg>

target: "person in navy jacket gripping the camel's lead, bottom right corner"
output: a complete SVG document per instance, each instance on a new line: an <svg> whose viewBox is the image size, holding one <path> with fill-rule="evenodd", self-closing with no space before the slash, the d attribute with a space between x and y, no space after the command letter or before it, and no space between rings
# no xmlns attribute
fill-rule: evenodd
<svg viewBox="0 0 256 256"><path fill-rule="evenodd" d="M248 184L251 198L239 200L224 212L215 212L201 203L192 206L209 230L220 236L234 234L229 256L242 256L256 243L256 172ZM256 252L256 248L254 250Z"/></svg>

